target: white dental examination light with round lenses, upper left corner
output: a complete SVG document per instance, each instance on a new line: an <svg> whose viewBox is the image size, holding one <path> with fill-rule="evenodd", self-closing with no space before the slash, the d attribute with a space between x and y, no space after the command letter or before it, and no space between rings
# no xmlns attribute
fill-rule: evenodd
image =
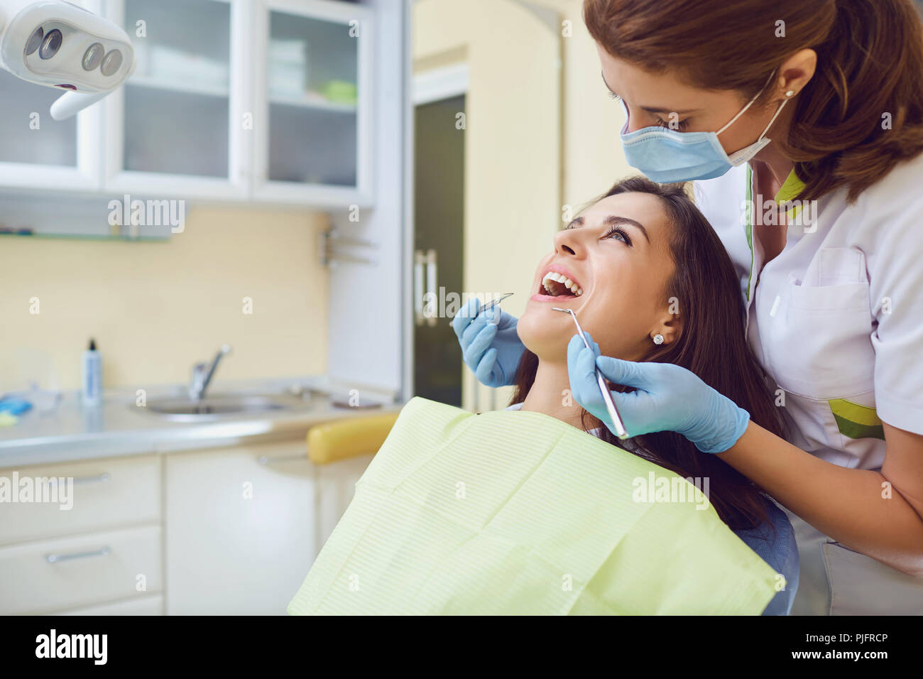
<svg viewBox="0 0 923 679"><path fill-rule="evenodd" d="M65 0L0 0L0 66L67 90L51 108L64 120L125 82L135 51L125 30Z"/></svg>

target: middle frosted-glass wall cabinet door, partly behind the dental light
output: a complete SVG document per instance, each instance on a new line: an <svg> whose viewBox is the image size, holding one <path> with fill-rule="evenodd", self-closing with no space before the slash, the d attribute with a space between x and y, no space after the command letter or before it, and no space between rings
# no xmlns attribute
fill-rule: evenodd
<svg viewBox="0 0 923 679"><path fill-rule="evenodd" d="M231 190L235 6L240 0L114 4L110 17L131 37L138 67L113 98L110 179L128 188Z"/></svg>

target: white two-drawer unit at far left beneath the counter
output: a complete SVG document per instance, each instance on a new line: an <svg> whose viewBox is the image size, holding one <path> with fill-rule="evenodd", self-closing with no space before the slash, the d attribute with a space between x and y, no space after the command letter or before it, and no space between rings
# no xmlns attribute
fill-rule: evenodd
<svg viewBox="0 0 923 679"><path fill-rule="evenodd" d="M134 609L162 592L158 455L6 468L0 478L17 493L0 503L0 614Z"/></svg>

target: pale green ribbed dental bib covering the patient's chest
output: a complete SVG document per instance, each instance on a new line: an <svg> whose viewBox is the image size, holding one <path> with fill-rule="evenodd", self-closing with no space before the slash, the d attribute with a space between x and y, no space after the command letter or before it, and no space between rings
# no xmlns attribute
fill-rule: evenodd
<svg viewBox="0 0 923 679"><path fill-rule="evenodd" d="M685 502L636 501L654 478ZM674 479L541 413L414 397L288 612L760 614L773 569Z"/></svg>

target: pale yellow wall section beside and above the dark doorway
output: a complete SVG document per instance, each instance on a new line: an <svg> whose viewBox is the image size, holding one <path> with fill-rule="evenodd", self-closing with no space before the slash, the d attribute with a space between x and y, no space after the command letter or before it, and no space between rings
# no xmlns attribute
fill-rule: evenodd
<svg viewBox="0 0 923 679"><path fill-rule="evenodd" d="M413 20L417 72L469 69L462 292L514 292L503 307L518 316L559 226L557 36L509 0L421 0ZM462 405L490 407L495 394L462 374Z"/></svg>

